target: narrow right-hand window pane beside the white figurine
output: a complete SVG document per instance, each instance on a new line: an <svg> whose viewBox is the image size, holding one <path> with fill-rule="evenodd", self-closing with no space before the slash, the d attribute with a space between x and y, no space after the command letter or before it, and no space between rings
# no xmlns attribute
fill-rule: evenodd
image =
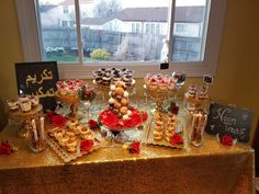
<svg viewBox="0 0 259 194"><path fill-rule="evenodd" d="M176 0L173 61L203 60L206 1Z"/></svg>

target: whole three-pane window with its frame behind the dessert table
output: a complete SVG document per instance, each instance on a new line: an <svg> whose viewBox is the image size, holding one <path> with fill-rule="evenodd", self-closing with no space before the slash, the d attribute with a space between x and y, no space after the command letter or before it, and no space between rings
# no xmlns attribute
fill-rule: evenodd
<svg viewBox="0 0 259 194"><path fill-rule="evenodd" d="M68 2L69 14L58 14L59 8ZM169 71L177 68L189 76L215 73L226 0L36 0L35 3L16 0L24 58L57 60L61 78L86 78L99 65L131 66L137 76L157 71L165 39L169 43ZM41 7L46 3L49 9L43 12ZM26 22L21 16L24 14L30 19ZM61 26L70 27L55 26L58 21L63 21ZM75 25L71 21L76 21ZM92 55L99 48L105 55Z"/></svg>

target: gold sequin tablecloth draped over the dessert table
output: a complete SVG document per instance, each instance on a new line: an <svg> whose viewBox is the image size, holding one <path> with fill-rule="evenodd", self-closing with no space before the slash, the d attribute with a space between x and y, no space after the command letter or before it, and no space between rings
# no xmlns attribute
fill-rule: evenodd
<svg viewBox="0 0 259 194"><path fill-rule="evenodd" d="M0 133L3 139L19 151L0 156L0 194L254 193L254 150L240 144L225 147L211 136L200 148L142 146L140 155L115 145L69 164L50 148L31 152L14 127Z"/></svg>

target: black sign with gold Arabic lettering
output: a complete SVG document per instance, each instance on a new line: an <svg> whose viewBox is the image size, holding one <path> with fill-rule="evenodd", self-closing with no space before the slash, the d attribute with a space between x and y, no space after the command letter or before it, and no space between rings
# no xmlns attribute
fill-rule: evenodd
<svg viewBox="0 0 259 194"><path fill-rule="evenodd" d="M55 91L58 81L56 61L15 64L18 94L37 95L45 110L56 106Z"/></svg>

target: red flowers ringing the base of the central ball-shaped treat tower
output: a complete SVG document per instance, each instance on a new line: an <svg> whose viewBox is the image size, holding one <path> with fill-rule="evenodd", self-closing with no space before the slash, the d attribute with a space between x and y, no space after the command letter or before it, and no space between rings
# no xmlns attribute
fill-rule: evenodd
<svg viewBox="0 0 259 194"><path fill-rule="evenodd" d="M117 115L112 113L110 110L104 110L100 115L99 119L102 125L108 126L113 130L121 132L123 128L131 128L143 123L142 114L134 107L130 107L132 115L130 119L120 119Z"/></svg>

